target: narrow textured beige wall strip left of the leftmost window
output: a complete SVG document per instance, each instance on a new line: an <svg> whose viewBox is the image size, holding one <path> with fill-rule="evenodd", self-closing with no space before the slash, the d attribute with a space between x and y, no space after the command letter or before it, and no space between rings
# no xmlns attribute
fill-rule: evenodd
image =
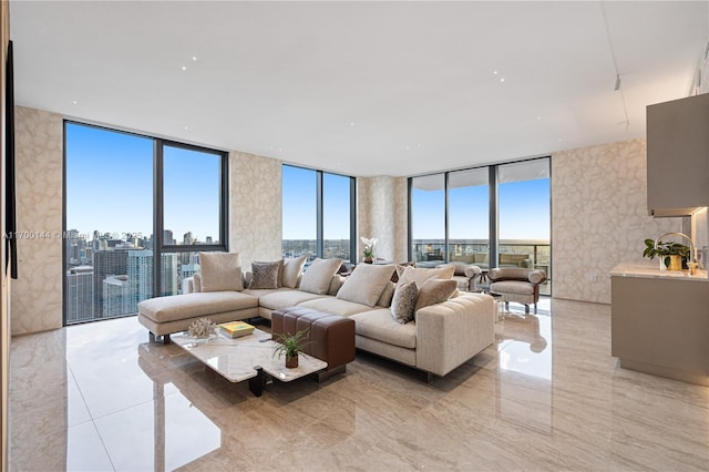
<svg viewBox="0 0 709 472"><path fill-rule="evenodd" d="M12 335L62 326L61 115L16 107L16 164L20 237Z"/></svg>

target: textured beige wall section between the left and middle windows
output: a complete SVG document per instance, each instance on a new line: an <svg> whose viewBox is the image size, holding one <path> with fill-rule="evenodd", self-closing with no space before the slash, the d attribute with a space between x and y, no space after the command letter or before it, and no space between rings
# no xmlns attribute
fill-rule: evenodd
<svg viewBox="0 0 709 472"><path fill-rule="evenodd" d="M282 257L281 162L229 153L229 250L254 260Z"/></svg>

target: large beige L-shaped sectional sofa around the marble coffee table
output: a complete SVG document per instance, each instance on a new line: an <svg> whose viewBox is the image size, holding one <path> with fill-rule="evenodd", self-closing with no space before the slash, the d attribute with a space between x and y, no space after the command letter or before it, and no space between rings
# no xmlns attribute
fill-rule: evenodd
<svg viewBox="0 0 709 472"><path fill-rule="evenodd" d="M418 287L413 290L418 291L418 299L413 300L417 305L409 310L415 319L401 322L393 314L407 312L407 302L412 300L400 297L403 289L390 281L394 266L362 265L346 278L337 275L339 261L323 260L316 260L305 275L298 274L295 279L298 259L282 261L280 275L270 288L244 288L249 280L239 273L240 285L227 287L236 289L215 291L201 291L208 277L203 261L202 274L184 284L185 291L189 293L142 301L138 320L151 337L168 338L201 317L215 322L256 316L270 319L271 312L279 308L306 307L353 319L357 348L438 376L445 376L494 342L493 298L454 290L456 283L450 280L452 268L400 269L400 288L404 284L411 289L410 284ZM263 271L256 266L254 269L250 287L263 287L260 278L254 284L254 278ZM322 273L320 279L314 284L311 279L319 271ZM434 281L429 283L431 279ZM441 291L443 286L445 290L453 288L454 293L453 296L443 294L439 301L436 290ZM435 302L419 306L424 298Z"/></svg>

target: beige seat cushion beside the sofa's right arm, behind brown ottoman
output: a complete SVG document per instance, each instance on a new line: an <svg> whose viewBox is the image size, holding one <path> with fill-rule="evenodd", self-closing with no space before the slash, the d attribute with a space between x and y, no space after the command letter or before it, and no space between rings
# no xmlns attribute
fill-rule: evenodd
<svg viewBox="0 0 709 472"><path fill-rule="evenodd" d="M417 324L414 321L401 325L391 316L391 310L380 308L364 311L350 317L354 320L354 332L392 346L415 349Z"/></svg>

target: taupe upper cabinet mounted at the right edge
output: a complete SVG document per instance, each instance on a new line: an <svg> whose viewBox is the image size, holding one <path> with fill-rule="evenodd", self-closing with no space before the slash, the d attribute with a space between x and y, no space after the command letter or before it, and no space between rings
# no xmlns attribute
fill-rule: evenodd
<svg viewBox="0 0 709 472"><path fill-rule="evenodd" d="M709 205L709 94L647 107L647 206L686 216Z"/></svg>

